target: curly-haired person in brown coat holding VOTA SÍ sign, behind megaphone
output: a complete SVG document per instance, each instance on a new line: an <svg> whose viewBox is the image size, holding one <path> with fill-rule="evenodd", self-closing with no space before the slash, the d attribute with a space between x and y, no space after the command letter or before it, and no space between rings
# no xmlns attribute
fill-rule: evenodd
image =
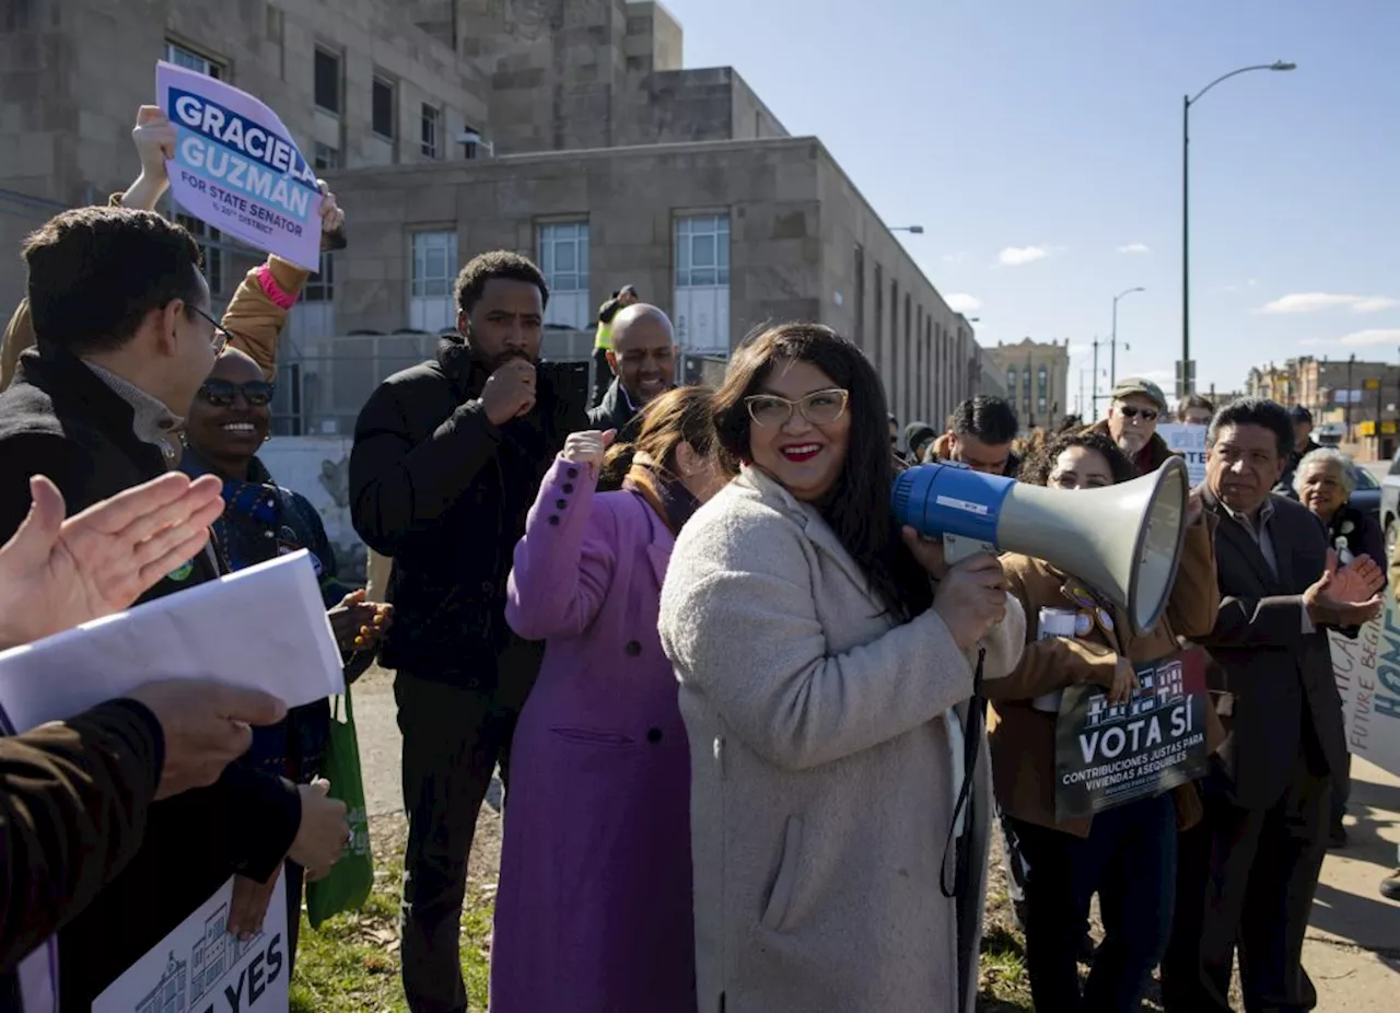
<svg viewBox="0 0 1400 1013"><path fill-rule="evenodd" d="M1021 469L1021 481L1057 489L1093 489L1134 475L1113 440L1084 430L1053 439ZM1133 632L1124 609L1044 560L1008 553L1002 567L1008 590L1026 612L1026 647L1011 675L987 682L984 694L993 705L988 729L997 801L1028 864L1025 928L1035 1005L1057 1013L1137 1009L1170 933L1176 831L1183 818L1198 818L1196 789L1184 785L1173 794L1128 801L1096 817L1058 821L1057 715L1037 698L1093 684L1107 689L1110 701L1124 701L1137 687L1134 666L1175 653L1179 636L1210 633L1219 608L1211 530L1193 495L1172 598L1163 618L1144 635ZM1036 639L1040 608L1075 608L1084 594L1100 598L1096 611L1106 621L1095 621L1095 611L1086 609L1088 629L1079 636ZM1095 891L1106 936L1081 996L1075 958Z"/></svg>

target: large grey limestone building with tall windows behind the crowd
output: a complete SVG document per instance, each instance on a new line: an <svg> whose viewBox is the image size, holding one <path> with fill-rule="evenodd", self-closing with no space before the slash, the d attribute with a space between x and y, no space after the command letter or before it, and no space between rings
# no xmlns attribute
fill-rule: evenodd
<svg viewBox="0 0 1400 1013"><path fill-rule="evenodd" d="M587 354L596 307L631 283L693 354L767 321L850 333L902 420L986 385L972 325L822 143L788 136L734 69L685 67L650 0L13 0L4 248L130 182L158 59L274 108L350 219L293 312L281 432L347 432L378 378L452 326L458 266L493 248L547 273L554 356ZM260 254L188 224L225 300ZM7 259L3 304L21 289Z"/></svg>

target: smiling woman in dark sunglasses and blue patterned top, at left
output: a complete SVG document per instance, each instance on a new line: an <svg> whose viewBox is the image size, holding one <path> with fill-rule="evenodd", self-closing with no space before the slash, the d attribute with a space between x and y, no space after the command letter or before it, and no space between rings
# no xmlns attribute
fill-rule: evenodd
<svg viewBox="0 0 1400 1013"><path fill-rule="evenodd" d="M216 332L217 340L217 332ZM336 556L321 516L305 496L273 482L258 448L272 425L273 384L244 352L228 347L199 388L185 419L185 453L181 469L190 476L217 475L224 481L224 513L214 521L214 551L225 572L241 570L280 555L307 549L321 581L330 626L346 659L346 680L353 681L374 659L378 640L388 630L391 605L364 601L336 577ZM311 783L321 775L330 738L326 701L293 708L280 724L253 730L253 745L241 762L253 764L293 783ZM295 958L301 921L302 870L286 863L288 953ZM276 877L266 884L238 877L230 930L251 936L262 928Z"/></svg>

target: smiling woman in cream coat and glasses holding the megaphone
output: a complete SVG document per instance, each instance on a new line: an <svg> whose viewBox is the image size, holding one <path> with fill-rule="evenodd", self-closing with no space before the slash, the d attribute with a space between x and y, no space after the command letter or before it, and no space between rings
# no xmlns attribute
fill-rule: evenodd
<svg viewBox="0 0 1400 1013"><path fill-rule="evenodd" d="M836 332L763 332L714 411L745 467L680 532L659 618L690 744L699 1007L970 1012L958 708L979 667L1015 664L1021 608L994 558L949 569L895 524L885 394ZM984 856L962 887L977 911Z"/></svg>

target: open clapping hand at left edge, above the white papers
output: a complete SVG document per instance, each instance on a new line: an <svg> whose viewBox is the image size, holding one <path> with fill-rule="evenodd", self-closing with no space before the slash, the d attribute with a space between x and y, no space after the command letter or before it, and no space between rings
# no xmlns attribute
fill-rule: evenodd
<svg viewBox="0 0 1400 1013"><path fill-rule="evenodd" d="M0 647L127 608L204 548L221 489L171 472L63 520L57 486L29 479L29 516L0 548Z"/></svg>

